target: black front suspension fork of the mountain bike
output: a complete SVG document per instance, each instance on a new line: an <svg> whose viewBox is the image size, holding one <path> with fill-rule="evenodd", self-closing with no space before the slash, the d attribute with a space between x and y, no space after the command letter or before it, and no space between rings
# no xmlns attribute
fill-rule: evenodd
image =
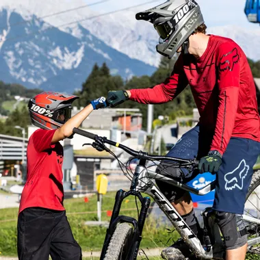
<svg viewBox="0 0 260 260"><path fill-rule="evenodd" d="M142 207L140 210L140 214L138 216L138 221L134 218L128 216L119 216L119 212L121 209L122 201L128 196L138 196ZM103 260L105 257L105 252L107 252L107 247L109 245L110 239L116 229L118 223L127 222L133 225L133 239L131 242L130 250L127 254L127 259L124 260L135 260L138 257L138 250L140 246L140 242L142 240L142 230L144 228L144 222L146 219L147 211L150 206L151 200L149 197L142 197L140 192L136 192L135 190L130 190L129 192L125 192L123 190L118 190L116 193L116 199L114 204L114 209L112 212L112 217L109 222L109 227L107 229L107 233L105 235L105 242L103 244L101 258Z"/></svg>

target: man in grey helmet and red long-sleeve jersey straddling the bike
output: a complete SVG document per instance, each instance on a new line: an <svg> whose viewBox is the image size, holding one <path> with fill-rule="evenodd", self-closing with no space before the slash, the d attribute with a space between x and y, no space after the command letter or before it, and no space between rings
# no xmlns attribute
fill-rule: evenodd
<svg viewBox="0 0 260 260"><path fill-rule="evenodd" d="M200 120L168 156L197 157L200 172L217 174L213 210L224 237L226 259L244 260L247 234L242 214L260 148L255 83L246 55L233 40L205 34L207 27L193 0L170 0L138 13L136 18L153 23L160 36L156 47L159 53L169 58L176 52L181 54L164 83L147 89L110 91L107 102L111 107L127 99L144 104L166 103L190 84ZM157 170L184 183L198 174L170 168L166 161ZM157 185L200 237L189 192L160 181ZM174 248L180 244L166 248L163 255L173 259Z"/></svg>

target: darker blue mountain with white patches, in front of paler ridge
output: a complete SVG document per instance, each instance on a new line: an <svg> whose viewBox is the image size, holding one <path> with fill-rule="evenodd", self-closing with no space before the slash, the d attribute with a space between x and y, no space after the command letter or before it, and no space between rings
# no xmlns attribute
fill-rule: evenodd
<svg viewBox="0 0 260 260"><path fill-rule="evenodd" d="M81 39L17 10L0 10L0 76L5 82L72 92L81 88L95 63L101 66L106 62L112 74L125 79L155 71L155 67L107 46L80 25Z"/></svg>

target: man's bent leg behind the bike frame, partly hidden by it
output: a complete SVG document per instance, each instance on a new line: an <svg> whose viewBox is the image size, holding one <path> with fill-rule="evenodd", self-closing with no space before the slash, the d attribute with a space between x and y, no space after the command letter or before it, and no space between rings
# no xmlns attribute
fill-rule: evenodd
<svg viewBox="0 0 260 260"><path fill-rule="evenodd" d="M203 139L201 140L200 135L200 127L198 126L187 131L187 133L181 137L166 156L182 159L194 159L197 156L202 157L207 155L211 144L211 137L203 133ZM196 177L195 172L188 172L187 169L172 168L171 166L172 162L162 161L157 167L157 172L160 174L170 175L177 181L183 183L187 183ZM156 183L164 196L166 196L172 206L178 211L192 231L197 235L200 226L193 210L190 193L163 181L156 181Z"/></svg>

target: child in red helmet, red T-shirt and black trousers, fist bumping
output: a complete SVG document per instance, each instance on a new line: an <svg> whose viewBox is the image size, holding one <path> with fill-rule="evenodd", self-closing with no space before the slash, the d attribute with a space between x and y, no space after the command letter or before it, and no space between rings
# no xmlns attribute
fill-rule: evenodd
<svg viewBox="0 0 260 260"><path fill-rule="evenodd" d="M64 209L62 185L63 147L59 141L72 138L93 111L106 107L101 97L71 116L71 104L78 96L42 92L30 99L31 122L40 127L27 145L27 182L18 214L19 260L79 260L81 248L75 241Z"/></svg>

